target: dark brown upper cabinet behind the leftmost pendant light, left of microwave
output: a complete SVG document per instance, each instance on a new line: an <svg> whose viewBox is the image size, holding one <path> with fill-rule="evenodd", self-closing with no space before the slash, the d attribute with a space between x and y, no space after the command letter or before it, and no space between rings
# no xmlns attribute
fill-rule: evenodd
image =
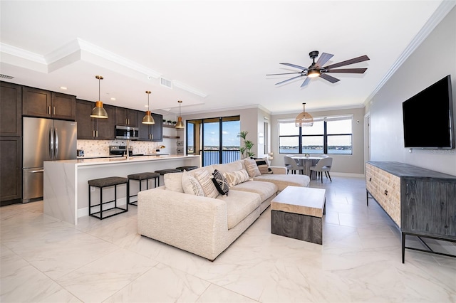
<svg viewBox="0 0 456 303"><path fill-rule="evenodd" d="M115 139L115 107L103 105L108 119L90 117L95 102L76 100L76 122L78 122L78 139Z"/></svg>

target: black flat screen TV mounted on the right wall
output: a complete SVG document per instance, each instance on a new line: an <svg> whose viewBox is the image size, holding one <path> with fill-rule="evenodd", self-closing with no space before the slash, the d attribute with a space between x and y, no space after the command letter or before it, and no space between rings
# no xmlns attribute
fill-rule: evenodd
<svg viewBox="0 0 456 303"><path fill-rule="evenodd" d="M402 109L405 147L455 148L450 75L410 97Z"/></svg>

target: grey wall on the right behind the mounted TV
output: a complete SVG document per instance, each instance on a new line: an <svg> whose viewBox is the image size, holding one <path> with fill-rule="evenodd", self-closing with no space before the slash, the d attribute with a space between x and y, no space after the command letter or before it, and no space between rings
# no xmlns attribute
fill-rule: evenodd
<svg viewBox="0 0 456 303"><path fill-rule="evenodd" d="M375 58L373 58L375 60ZM437 25L366 106L371 118L371 156L456 175L455 149L404 147L402 102L437 80L451 75L456 114L456 8ZM429 102L432 106L432 100ZM453 116L456 127L455 117ZM432 123L432 120L423 123ZM424 134L423 134L424 135Z"/></svg>

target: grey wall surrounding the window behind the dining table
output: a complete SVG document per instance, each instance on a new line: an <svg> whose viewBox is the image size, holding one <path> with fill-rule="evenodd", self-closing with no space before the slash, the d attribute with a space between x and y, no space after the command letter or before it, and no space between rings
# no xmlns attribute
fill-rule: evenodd
<svg viewBox="0 0 456 303"><path fill-rule="evenodd" d="M364 174L364 139L363 139L363 108L349 110L327 110L310 112L314 117L328 117L336 115L353 115L353 154L333 154L331 173ZM271 121L271 151L274 152L273 166L284 166L285 154L279 154L279 119L294 119L299 112L287 115L272 115Z"/></svg>

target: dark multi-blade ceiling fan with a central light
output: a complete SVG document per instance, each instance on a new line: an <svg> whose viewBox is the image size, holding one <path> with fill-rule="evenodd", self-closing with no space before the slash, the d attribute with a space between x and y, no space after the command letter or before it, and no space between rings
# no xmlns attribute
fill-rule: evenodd
<svg viewBox="0 0 456 303"><path fill-rule="evenodd" d="M292 68L298 68L301 71L300 72L295 72L295 73L280 73L280 74L270 74L270 75L291 75L291 74L299 74L296 77L289 78L287 80L281 81L279 83L276 83L276 85L286 83L288 81L301 78L303 76L307 76L306 80L301 84L301 87L306 86L309 84L309 81L311 78L316 78L316 77L321 77L324 80L327 80L331 83L336 83L340 81L338 78L334 78L331 75L328 75L327 73L356 73L356 74L362 74L364 73L367 68L340 68L341 66L345 65L350 65L353 63L358 63L358 62L363 62L369 60L369 57L367 55L361 55L361 57L353 58L350 60L342 61L339 63L334 63L331 65L326 65L323 66L326 62L328 62L329 59L333 57L331 53L321 53L320 58L318 58L318 61L315 62L315 58L318 57L318 50L311 51L309 53L309 57L312 59L312 64L309 66L309 68L304 68L304 66L299 66L291 63L280 63L283 65L288 65L291 66ZM323 67L322 67L323 66ZM338 70L334 70L333 68L339 68Z"/></svg>

